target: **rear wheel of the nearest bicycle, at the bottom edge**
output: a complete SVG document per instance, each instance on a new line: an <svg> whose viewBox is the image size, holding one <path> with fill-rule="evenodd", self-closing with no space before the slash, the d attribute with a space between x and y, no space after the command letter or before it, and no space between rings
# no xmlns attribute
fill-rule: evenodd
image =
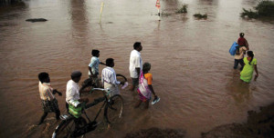
<svg viewBox="0 0 274 138"><path fill-rule="evenodd" d="M77 133L77 128L83 127L87 122L84 118L79 117L77 123L75 118L70 118L68 120L63 120L54 133L52 133L52 138L75 138L79 136Z"/></svg>

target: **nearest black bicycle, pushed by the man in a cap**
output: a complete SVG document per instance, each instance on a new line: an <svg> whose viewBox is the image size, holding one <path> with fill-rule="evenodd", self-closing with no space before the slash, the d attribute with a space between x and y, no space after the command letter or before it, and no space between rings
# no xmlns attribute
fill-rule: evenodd
<svg viewBox="0 0 274 138"><path fill-rule="evenodd" d="M96 122L101 110L104 108L104 118L106 119L107 123L115 123L117 120L121 120L121 114L123 110L123 99L120 94L116 94L108 98L110 94L110 89L101 89L101 88L92 88L92 91L99 90L103 92L104 96L98 99L95 99L93 103L81 104L81 114L85 114L86 118L88 119L88 123L82 115L79 118L75 117L71 113L60 115L62 120L61 123L58 124L54 133L52 133L52 138L59 138L59 137L79 137L84 135L85 133L89 133L96 129L99 123ZM93 121L90 121L87 113L85 112L86 109L90 108L93 105L99 104L104 102L99 112L96 114Z"/></svg>

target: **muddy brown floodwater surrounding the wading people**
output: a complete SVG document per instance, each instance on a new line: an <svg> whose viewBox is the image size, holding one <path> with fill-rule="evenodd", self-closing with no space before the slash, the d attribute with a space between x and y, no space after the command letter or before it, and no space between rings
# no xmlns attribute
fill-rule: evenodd
<svg viewBox="0 0 274 138"><path fill-rule="evenodd" d="M0 7L0 137L47 137L57 123L51 113L42 115L37 74L50 74L51 84L65 113L69 74L88 77L90 51L100 50L100 60L115 59L116 73L129 75L132 44L142 42L143 62L152 64L153 88L161 97L149 110L133 109L138 95L121 91L125 101L123 123L102 126L88 136L120 138L140 129L181 129L189 138L226 123L247 121L249 110L274 100L274 22L247 20L242 8L253 0L161 0L161 10L171 15L157 21L154 0L36 0ZM175 14L188 5L188 13ZM196 20L194 14L207 14ZM28 18L46 18L29 23ZM228 49L244 32L258 59L258 80L239 81ZM100 66L100 71L103 66ZM88 95L90 99L100 94ZM94 115L89 111L90 116Z"/></svg>

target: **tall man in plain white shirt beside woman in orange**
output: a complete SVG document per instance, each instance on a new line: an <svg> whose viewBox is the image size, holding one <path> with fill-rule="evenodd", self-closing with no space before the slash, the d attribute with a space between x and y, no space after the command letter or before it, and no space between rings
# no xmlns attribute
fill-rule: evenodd
<svg viewBox="0 0 274 138"><path fill-rule="evenodd" d="M135 42L133 44L134 50L132 50L131 58L130 58L130 74L132 77L132 87L131 91L134 91L135 87L139 84L139 75L140 70L142 70L142 44L141 42Z"/></svg>

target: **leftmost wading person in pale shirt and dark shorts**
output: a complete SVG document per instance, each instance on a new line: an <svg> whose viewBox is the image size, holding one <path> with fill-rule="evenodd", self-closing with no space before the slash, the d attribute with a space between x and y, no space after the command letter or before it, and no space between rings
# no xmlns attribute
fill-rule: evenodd
<svg viewBox="0 0 274 138"><path fill-rule="evenodd" d="M44 122L45 118L47 117L47 113L56 113L56 119L59 120L60 110L58 107L58 101L55 98L54 94L58 93L59 96L61 96L62 94L51 87L50 78L47 73L38 74L38 79L39 94L42 100L42 106L44 110L44 114L42 115L38 125Z"/></svg>

